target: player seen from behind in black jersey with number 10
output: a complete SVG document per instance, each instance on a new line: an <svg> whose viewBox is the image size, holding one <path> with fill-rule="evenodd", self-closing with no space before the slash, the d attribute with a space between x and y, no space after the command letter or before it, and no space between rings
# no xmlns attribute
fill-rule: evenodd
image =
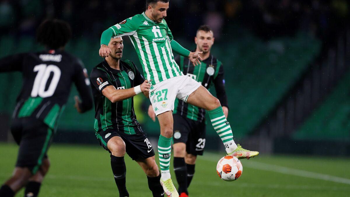
<svg viewBox="0 0 350 197"><path fill-rule="evenodd" d="M37 40L47 50L10 55L0 60L0 72L23 73L23 87L11 125L11 133L20 148L15 171L0 189L1 197L14 196L23 186L26 187L25 196L38 195L49 168L46 153L72 83L82 98L82 102L75 98L77 111L84 113L92 108L86 69L80 60L63 50L70 36L68 23L44 21L38 28ZM10 84L11 81L6 86L12 88Z"/></svg>

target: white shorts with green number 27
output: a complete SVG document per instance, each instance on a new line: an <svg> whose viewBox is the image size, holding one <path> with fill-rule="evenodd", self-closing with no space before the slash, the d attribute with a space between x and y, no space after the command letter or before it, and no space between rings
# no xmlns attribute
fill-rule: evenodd
<svg viewBox="0 0 350 197"><path fill-rule="evenodd" d="M149 100L155 115L174 111L176 98L187 102L188 96L200 86L200 83L187 75L176 76L153 85L149 91Z"/></svg>

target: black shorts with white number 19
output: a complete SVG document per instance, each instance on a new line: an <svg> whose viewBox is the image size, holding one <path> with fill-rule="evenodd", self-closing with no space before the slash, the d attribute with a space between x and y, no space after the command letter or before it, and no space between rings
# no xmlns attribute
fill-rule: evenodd
<svg viewBox="0 0 350 197"><path fill-rule="evenodd" d="M125 128L126 129L126 128ZM135 128L136 134L126 134L124 130L107 129L97 134L97 139L100 145L107 151L111 151L107 148L108 141L114 137L119 136L125 142L126 153L133 159L146 159L154 156L154 150L149 142L146 133L142 131L141 127Z"/></svg>

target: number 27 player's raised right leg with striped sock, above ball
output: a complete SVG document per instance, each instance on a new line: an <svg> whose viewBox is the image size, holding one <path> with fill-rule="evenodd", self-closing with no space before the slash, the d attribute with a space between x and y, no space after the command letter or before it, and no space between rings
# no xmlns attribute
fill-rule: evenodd
<svg viewBox="0 0 350 197"><path fill-rule="evenodd" d="M187 103L204 108L208 111L210 122L225 145L228 155L235 156L238 159L249 159L259 154L257 151L246 150L239 144L236 145L235 141L233 141L230 123L226 120L220 101L211 95L203 86L200 86L189 95Z"/></svg>

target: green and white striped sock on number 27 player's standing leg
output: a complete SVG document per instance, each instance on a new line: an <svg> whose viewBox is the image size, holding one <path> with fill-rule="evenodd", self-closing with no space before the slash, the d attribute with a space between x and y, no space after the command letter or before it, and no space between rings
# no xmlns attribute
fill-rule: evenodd
<svg viewBox="0 0 350 197"><path fill-rule="evenodd" d="M172 150L172 137L167 138L162 135L158 140L158 156L160 171L162 172L161 179L163 181L170 178L170 152Z"/></svg>

